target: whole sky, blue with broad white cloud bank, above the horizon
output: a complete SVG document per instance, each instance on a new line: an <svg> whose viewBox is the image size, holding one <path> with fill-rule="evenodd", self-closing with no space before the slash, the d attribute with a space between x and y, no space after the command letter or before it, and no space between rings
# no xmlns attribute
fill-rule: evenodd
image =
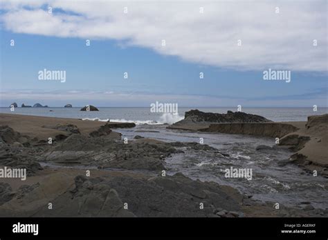
<svg viewBox="0 0 328 240"><path fill-rule="evenodd" d="M327 107L325 0L2 1L0 31L1 107Z"/></svg>

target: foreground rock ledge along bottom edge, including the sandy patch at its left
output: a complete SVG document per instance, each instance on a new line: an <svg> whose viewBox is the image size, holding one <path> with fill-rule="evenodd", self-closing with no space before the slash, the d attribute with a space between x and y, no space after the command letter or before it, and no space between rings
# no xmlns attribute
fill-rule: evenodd
<svg viewBox="0 0 328 240"><path fill-rule="evenodd" d="M194 181L183 174L136 178L78 175L73 187L64 174L6 197L2 217L242 217L239 202L217 183ZM46 188L49 183L53 188ZM7 194L13 194L4 186ZM1 197L1 195L0 195ZM35 201L37 199L38 201ZM55 206L48 209L48 203ZM223 210L224 209L224 210ZM224 213L216 214L220 211ZM227 211L227 212L225 212ZM230 214L228 214L230 212Z"/></svg>

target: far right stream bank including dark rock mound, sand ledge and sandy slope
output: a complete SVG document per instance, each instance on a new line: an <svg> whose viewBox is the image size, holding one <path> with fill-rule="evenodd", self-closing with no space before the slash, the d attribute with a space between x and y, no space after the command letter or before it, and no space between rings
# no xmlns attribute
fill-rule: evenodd
<svg viewBox="0 0 328 240"><path fill-rule="evenodd" d="M249 122L250 119L256 122ZM307 171L316 170L318 174L328 177L328 114L309 116L307 122L273 123L244 112L213 114L190 110L186 112L185 119L167 128L278 138L277 146L295 152L289 159L290 163L296 163Z"/></svg>

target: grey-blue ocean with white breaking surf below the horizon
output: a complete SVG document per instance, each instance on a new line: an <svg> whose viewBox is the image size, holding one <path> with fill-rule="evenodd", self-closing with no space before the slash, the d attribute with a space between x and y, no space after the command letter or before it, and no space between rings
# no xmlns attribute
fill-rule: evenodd
<svg viewBox="0 0 328 240"><path fill-rule="evenodd" d="M80 108L0 108L3 113L27 114L44 117L64 117L73 119L98 119L100 121L131 121L136 124L163 124L174 123L183 119L186 111L198 109L202 112L226 113L236 108L179 108L179 114L163 114L150 112L150 108L98 108L99 112L82 112ZM272 121L307 121L307 117L315 114L325 114L328 108L242 108L242 112L257 114Z"/></svg>

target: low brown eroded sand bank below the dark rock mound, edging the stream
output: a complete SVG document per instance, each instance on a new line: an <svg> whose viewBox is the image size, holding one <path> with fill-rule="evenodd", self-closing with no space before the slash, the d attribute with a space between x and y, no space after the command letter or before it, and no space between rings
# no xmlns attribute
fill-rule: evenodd
<svg viewBox="0 0 328 240"><path fill-rule="evenodd" d="M283 137L298 130L288 123L218 123L210 124L202 132L221 132L228 134L250 134L263 137Z"/></svg>

